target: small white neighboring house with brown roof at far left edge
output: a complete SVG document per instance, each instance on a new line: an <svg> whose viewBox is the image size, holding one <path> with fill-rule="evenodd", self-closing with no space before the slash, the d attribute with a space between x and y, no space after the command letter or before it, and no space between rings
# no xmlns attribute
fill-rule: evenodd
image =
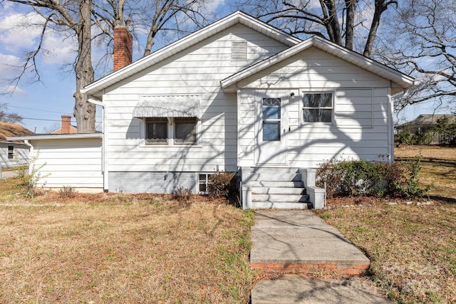
<svg viewBox="0 0 456 304"><path fill-rule="evenodd" d="M0 122L0 162L1 167L16 166L28 162L30 147L23 140L7 141L7 137L30 135L31 130L14 123Z"/></svg>

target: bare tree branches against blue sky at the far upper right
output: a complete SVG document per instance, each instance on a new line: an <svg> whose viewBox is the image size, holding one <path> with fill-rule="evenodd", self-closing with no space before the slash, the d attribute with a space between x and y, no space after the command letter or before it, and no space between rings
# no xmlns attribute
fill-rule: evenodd
<svg viewBox="0 0 456 304"><path fill-rule="evenodd" d="M456 96L456 3L452 0L403 1L389 33L375 54L405 70L420 85L395 99L395 108L435 100L436 105Z"/></svg>

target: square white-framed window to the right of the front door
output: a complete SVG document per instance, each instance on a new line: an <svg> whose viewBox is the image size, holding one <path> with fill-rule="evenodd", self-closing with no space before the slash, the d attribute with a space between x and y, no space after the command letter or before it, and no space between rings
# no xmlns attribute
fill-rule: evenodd
<svg viewBox="0 0 456 304"><path fill-rule="evenodd" d="M304 93L304 122L331 122L333 93Z"/></svg>

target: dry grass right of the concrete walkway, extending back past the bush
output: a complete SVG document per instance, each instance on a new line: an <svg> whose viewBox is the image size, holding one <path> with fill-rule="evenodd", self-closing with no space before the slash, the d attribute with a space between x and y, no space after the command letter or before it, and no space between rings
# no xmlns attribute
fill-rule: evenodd
<svg viewBox="0 0 456 304"><path fill-rule="evenodd" d="M318 211L371 259L368 278L397 303L456 303L456 149L400 147L399 162L422 157L423 184L434 204L389 205L392 199L339 198ZM394 200L395 201L395 200Z"/></svg>

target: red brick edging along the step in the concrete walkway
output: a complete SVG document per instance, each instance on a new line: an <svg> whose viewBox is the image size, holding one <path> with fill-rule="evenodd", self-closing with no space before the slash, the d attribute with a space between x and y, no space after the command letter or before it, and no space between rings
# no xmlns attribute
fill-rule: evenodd
<svg viewBox="0 0 456 304"><path fill-rule="evenodd" d="M306 263L251 263L253 269L265 273L314 273L318 269L329 270L335 273L360 275L367 271L370 265L336 265L336 264L306 264Z"/></svg>

